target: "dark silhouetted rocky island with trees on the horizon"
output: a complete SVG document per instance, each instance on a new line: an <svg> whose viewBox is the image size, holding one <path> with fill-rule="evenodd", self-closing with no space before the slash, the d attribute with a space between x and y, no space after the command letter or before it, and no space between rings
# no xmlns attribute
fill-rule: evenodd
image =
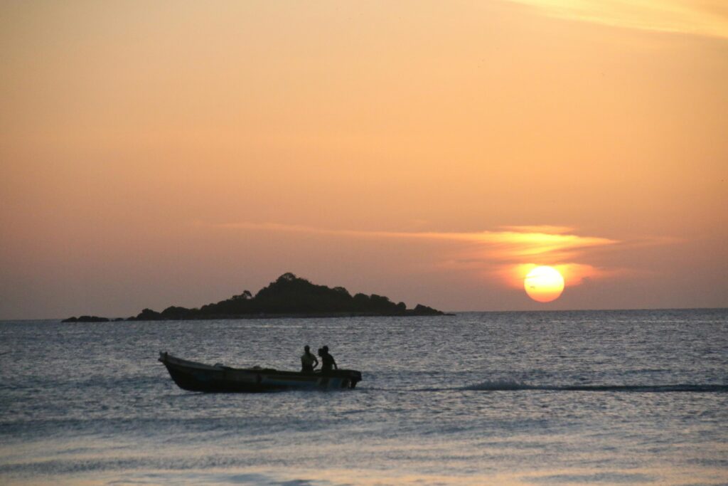
<svg viewBox="0 0 728 486"><path fill-rule="evenodd" d="M162 312L144 309L127 321L186 321L194 319L249 319L277 317L357 317L446 315L427 305L408 309L404 302L395 304L388 297L349 294L344 287L316 285L293 273L284 273L257 294L243 291L226 300L199 308L167 307ZM92 316L68 318L63 322L106 322L111 319ZM119 320L119 319L114 319Z"/></svg>

